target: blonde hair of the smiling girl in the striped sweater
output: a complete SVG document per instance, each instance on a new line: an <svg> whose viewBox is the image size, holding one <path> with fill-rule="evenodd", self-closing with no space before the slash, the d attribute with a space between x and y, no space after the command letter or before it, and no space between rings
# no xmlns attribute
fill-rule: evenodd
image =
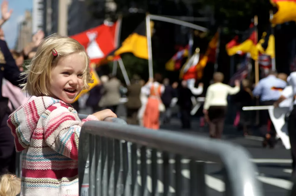
<svg viewBox="0 0 296 196"><path fill-rule="evenodd" d="M53 49L58 53L57 56L53 55ZM53 34L39 44L31 64L22 73L27 79L27 83L23 85L23 90L29 96L50 96L51 69L57 65L60 58L73 53L78 53L85 58L82 82L84 89L88 89L89 83L93 83L93 80L89 68L89 57L84 47L72 38Z"/></svg>

